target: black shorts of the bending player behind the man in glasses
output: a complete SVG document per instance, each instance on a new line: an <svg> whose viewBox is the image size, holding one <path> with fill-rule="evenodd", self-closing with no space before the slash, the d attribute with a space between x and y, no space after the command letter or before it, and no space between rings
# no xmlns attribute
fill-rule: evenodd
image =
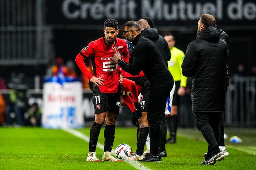
<svg viewBox="0 0 256 170"><path fill-rule="evenodd" d="M141 112L148 112L148 96L149 96L149 86L150 81L146 76L141 77L126 77L129 80L132 80L136 83L136 85L140 85L142 87L139 104L141 105Z"/></svg>

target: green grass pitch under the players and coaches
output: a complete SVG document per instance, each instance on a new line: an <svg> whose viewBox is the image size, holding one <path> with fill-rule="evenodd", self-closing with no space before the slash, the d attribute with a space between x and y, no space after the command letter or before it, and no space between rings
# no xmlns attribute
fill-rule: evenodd
<svg viewBox="0 0 256 170"><path fill-rule="evenodd" d="M89 136L90 128L78 129ZM104 144L104 127L98 142ZM167 144L167 157L161 163L138 163L137 168L122 162L87 162L88 143L64 130L43 128L0 127L0 169L83 169L83 170L132 170L132 169L256 169L256 129L226 129L229 137L237 135L243 143L226 141L230 156L214 166L202 166L207 143L196 129L179 129L176 144ZM113 149L127 143L136 149L136 129L116 127ZM96 149L101 159L103 150Z"/></svg>

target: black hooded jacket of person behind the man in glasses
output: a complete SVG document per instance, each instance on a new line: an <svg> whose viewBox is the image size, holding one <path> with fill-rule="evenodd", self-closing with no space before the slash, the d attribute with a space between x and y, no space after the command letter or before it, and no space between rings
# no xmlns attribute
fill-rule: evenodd
<svg viewBox="0 0 256 170"><path fill-rule="evenodd" d="M146 28L141 34L151 40L161 52L163 61L168 68L168 62L171 59L171 52L166 40L159 34L155 28Z"/></svg>

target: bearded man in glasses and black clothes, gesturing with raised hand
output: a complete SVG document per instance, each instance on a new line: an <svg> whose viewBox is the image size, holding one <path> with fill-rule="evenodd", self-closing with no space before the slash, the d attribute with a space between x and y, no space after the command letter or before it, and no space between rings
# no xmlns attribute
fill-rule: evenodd
<svg viewBox="0 0 256 170"><path fill-rule="evenodd" d="M150 136L150 154L141 161L159 162L161 116L164 114L167 96L173 87L173 76L167 69L160 51L150 40L140 33L140 25L137 21L128 21L123 26L123 36L128 42L135 45L133 50L133 61L126 63L121 60L117 48L113 60L117 62L124 71L132 75L139 74L141 70L150 81L148 98L148 124Z"/></svg>

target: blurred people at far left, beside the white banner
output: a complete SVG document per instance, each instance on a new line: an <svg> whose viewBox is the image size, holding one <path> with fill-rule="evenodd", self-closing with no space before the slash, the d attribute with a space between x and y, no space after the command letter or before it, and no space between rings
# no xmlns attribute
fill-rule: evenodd
<svg viewBox="0 0 256 170"><path fill-rule="evenodd" d="M28 86L23 83L24 74L11 73L11 82L1 79L1 89L9 89L4 98L0 91L0 125L41 126L42 110L38 103L28 102Z"/></svg>

